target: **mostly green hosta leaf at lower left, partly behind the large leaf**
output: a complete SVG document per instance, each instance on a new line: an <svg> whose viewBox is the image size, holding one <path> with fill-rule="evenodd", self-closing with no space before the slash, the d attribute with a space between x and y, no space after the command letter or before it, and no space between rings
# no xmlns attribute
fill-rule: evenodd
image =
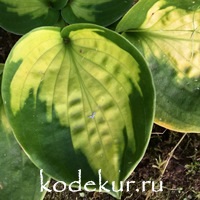
<svg viewBox="0 0 200 200"><path fill-rule="evenodd" d="M1 66L1 64L0 64ZM1 79L1 78L0 78ZM13 136L0 98L0 197L39 200L39 169L29 160ZM48 178L44 176L44 181Z"/></svg>

